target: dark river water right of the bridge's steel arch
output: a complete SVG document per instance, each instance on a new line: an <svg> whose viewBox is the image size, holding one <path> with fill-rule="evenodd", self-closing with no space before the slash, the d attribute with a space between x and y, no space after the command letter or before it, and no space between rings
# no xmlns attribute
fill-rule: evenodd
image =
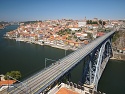
<svg viewBox="0 0 125 94"><path fill-rule="evenodd" d="M98 90L106 94L125 94L125 61L110 60L107 63Z"/></svg>

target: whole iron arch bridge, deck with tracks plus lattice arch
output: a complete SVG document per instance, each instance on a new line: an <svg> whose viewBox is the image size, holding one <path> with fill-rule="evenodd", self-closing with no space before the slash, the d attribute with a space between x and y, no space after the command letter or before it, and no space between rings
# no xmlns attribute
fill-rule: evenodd
<svg viewBox="0 0 125 94"><path fill-rule="evenodd" d="M112 56L111 39L114 33L115 31L111 31L95 39L25 81L14 84L14 87L3 94L39 94L44 92L54 82L67 75L83 59L85 67L83 68L80 83L96 91L103 70Z"/></svg>

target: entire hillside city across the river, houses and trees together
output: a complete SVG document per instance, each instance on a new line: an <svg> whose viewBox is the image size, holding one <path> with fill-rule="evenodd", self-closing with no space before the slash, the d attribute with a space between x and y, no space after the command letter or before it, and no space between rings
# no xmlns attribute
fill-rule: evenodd
<svg viewBox="0 0 125 94"><path fill-rule="evenodd" d="M7 32L5 36L16 41L77 50L122 24L119 20L87 20L86 17L84 20L29 21L21 22L16 30Z"/></svg>

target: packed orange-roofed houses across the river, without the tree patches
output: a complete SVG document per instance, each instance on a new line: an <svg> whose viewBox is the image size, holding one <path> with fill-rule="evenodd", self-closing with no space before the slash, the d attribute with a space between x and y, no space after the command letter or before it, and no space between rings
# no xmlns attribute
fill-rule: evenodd
<svg viewBox="0 0 125 94"><path fill-rule="evenodd" d="M113 24L106 24L105 27L112 27ZM66 34L60 36L57 34L60 30L65 30L69 28L71 32L74 32L76 39L68 37L72 37L74 35ZM55 45L70 45L74 47L79 47L83 44L88 44L89 39L87 39L87 34L91 33L94 38L97 36L104 35L103 32L98 32L99 28L98 24L86 24L85 20L46 20L43 22L36 22L33 24L21 25L14 31L10 31L6 33L7 37L16 38L18 40L27 40L30 42L39 42L39 43L48 43ZM79 32L80 31L80 32ZM78 40L79 39L79 40ZM81 39L81 40L80 40Z"/></svg>

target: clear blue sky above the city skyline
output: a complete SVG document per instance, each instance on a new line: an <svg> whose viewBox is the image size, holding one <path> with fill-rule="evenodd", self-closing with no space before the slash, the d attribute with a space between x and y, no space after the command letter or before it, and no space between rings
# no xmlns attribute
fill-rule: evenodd
<svg viewBox="0 0 125 94"><path fill-rule="evenodd" d="M125 0L0 0L0 21L125 19Z"/></svg>

